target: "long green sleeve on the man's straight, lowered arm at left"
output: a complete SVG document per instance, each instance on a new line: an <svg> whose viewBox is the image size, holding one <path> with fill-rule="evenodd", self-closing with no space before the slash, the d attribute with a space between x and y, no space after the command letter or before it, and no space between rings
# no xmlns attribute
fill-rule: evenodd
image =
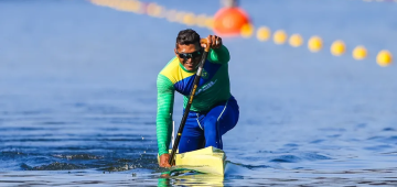
<svg viewBox="0 0 397 187"><path fill-rule="evenodd" d="M157 139L159 156L169 153L172 133L172 111L174 102L174 87L169 78L159 74L157 79L158 111L157 111Z"/></svg>

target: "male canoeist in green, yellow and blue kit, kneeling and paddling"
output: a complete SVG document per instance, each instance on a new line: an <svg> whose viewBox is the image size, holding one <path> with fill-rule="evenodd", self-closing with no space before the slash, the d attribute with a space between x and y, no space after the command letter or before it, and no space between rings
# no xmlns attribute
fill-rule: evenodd
<svg viewBox="0 0 397 187"><path fill-rule="evenodd" d="M170 167L168 161L174 92L184 96L185 108L206 45L211 46L211 51L182 132L179 153L207 146L223 148L222 135L237 124L239 111L237 101L230 94L228 50L216 35L208 35L207 40L207 44L201 44L195 31L181 31L176 37L175 57L158 76L157 139L161 167Z"/></svg>

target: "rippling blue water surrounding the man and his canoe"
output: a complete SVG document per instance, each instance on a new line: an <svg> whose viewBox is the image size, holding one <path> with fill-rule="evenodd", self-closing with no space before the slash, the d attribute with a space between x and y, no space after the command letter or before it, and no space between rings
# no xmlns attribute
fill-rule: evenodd
<svg viewBox="0 0 397 187"><path fill-rule="evenodd" d="M157 1L214 14L214 1ZM310 53L224 38L237 127L224 136L225 178L160 178L157 74L186 26L83 0L0 1L0 185L366 186L397 185L397 3L243 1L256 26L304 38ZM195 29L202 36L211 31ZM347 54L334 57L334 40ZM351 50L363 44L365 61ZM182 118L176 96L174 120Z"/></svg>

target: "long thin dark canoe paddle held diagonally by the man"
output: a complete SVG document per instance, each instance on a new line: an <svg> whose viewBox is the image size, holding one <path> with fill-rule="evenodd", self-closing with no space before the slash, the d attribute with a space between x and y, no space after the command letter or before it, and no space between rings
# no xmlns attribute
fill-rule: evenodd
<svg viewBox="0 0 397 187"><path fill-rule="evenodd" d="M203 53L203 56L200 61L200 64L198 64L198 69L197 69L197 73L196 73L196 77L194 78L194 81L193 81L193 88L191 90L191 94L189 96L189 102L186 105L186 108L185 108L185 111L183 112L183 117L182 117L182 121L181 121L181 124L180 124L180 128L178 130L178 134L176 134L176 139L175 139L175 142L172 146L172 151L171 151L171 155L170 155L170 160L169 160L169 164L172 166L173 163L174 163L174 160L175 160L175 152L176 152L176 148L178 148L178 145L179 145L179 142L181 140L181 136L182 136L182 132L183 132L183 128L186 123L186 120L187 120L187 114L189 114L189 111L190 111L190 108L192 106L192 102L193 102L193 97L194 97L194 94L197 89L197 85L198 85L198 81L200 81L200 78L201 78L201 75L202 75L202 72L203 72L203 67L204 67L204 64L205 64L205 61L208 56L208 52L210 52L210 44L208 44L208 40L207 38L202 38L200 41L200 43L202 44L206 44L205 48L204 48L204 53Z"/></svg>

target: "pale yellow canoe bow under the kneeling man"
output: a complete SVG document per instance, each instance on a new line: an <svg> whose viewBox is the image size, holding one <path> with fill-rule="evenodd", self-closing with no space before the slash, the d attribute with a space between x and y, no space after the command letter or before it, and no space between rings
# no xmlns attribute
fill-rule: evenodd
<svg viewBox="0 0 397 187"><path fill-rule="evenodd" d="M176 154L174 168L184 168L205 174L224 176L225 163L225 152L219 148L208 146L192 152Z"/></svg>

